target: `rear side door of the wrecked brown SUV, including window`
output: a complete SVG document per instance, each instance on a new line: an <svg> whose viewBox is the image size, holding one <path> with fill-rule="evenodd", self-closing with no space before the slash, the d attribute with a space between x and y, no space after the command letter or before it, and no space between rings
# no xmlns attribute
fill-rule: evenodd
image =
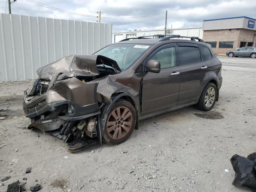
<svg viewBox="0 0 256 192"><path fill-rule="evenodd" d="M207 64L203 61L197 44L178 43L180 66L180 92L178 105L198 100L207 78Z"/></svg>

